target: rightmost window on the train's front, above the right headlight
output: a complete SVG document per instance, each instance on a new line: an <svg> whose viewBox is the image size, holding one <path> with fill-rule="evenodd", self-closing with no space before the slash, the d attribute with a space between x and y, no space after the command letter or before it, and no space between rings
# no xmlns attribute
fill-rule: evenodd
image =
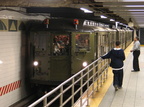
<svg viewBox="0 0 144 107"><path fill-rule="evenodd" d="M89 51L89 34L77 34L75 36L75 51Z"/></svg>

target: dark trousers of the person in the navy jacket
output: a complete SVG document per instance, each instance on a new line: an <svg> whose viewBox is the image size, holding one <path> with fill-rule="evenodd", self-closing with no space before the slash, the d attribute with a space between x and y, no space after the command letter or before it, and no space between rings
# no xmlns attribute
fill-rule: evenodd
<svg viewBox="0 0 144 107"><path fill-rule="evenodd" d="M113 85L117 85L119 87L122 87L123 83L123 69L121 70L113 70Z"/></svg>

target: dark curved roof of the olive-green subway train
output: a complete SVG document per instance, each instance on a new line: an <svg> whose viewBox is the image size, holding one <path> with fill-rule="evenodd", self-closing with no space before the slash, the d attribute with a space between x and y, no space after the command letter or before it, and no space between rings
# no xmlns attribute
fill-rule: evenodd
<svg viewBox="0 0 144 107"><path fill-rule="evenodd" d="M29 20L26 25L29 30L37 31L82 31L82 32L94 32L94 31L114 31L108 28L108 25L105 26L101 24L98 26L98 23L94 21L87 21L83 19L77 19L78 23L74 24L74 19L47 19L47 24L45 21L40 20ZM87 25L86 25L87 21ZM91 25L90 25L91 23ZM103 25L103 26L102 26Z"/></svg>

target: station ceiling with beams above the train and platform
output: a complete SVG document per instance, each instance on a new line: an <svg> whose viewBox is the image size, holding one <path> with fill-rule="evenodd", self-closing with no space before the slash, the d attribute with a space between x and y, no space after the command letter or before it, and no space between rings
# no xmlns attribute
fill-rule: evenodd
<svg viewBox="0 0 144 107"><path fill-rule="evenodd" d="M124 24L127 24L131 19L135 27L144 27L144 0L0 0L0 6L24 7L28 8L29 12L32 8L51 10L53 8L54 10L56 9L55 12L54 10L49 11L51 14L53 12L53 16L58 15L60 11L63 15L65 13L69 14L66 15L67 17L70 17L71 13L74 14L74 12L79 11L80 7L83 7L93 11L93 14L86 15L93 19L97 19L100 15L105 15ZM77 10L74 11L73 8ZM61 13L59 15L62 15ZM78 17L78 14L76 16Z"/></svg>

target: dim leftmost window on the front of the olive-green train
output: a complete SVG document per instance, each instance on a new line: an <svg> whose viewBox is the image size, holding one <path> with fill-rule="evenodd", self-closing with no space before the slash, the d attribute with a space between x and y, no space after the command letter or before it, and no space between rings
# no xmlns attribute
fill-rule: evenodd
<svg viewBox="0 0 144 107"><path fill-rule="evenodd" d="M42 35L39 33L34 34L34 46L36 50L44 51L46 50L46 37L47 35Z"/></svg>

